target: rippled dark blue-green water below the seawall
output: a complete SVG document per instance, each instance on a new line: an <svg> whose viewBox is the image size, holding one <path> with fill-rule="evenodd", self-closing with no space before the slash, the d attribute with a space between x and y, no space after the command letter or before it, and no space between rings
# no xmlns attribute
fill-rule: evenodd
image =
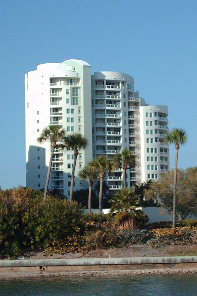
<svg viewBox="0 0 197 296"><path fill-rule="evenodd" d="M0 280L0 296L194 296L197 275Z"/></svg>

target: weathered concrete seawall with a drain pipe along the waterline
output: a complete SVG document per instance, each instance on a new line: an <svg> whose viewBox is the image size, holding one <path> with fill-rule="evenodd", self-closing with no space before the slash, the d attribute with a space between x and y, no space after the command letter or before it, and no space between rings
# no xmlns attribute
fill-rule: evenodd
<svg viewBox="0 0 197 296"><path fill-rule="evenodd" d="M87 275L87 272L104 271L139 271L138 274L147 271L150 274L159 270L169 273L171 270L175 273L181 269L197 272L197 256L0 260L0 278L65 273L69 276L78 273Z"/></svg>

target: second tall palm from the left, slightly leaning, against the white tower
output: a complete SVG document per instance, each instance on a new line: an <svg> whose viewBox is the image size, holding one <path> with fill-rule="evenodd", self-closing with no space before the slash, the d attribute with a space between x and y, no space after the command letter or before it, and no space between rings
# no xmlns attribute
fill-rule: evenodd
<svg viewBox="0 0 197 296"><path fill-rule="evenodd" d="M74 186L74 177L75 177L75 167L77 156L79 154L78 149L85 149L88 145L88 140L86 137L82 136L80 133L72 133L69 136L64 138L64 143L60 145L61 149L66 148L67 150L74 150L74 163L72 167L71 174L71 184L70 184L70 203L72 203L73 195L73 186Z"/></svg>

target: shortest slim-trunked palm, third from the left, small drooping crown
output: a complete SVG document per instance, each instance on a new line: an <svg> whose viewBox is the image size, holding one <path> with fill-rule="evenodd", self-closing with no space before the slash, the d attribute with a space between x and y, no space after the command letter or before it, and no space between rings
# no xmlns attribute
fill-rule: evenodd
<svg viewBox="0 0 197 296"><path fill-rule="evenodd" d="M78 173L79 179L88 181L89 186L89 192L88 192L88 214L91 214L91 195L92 195L92 186L93 186L93 180L98 179L98 173L95 169L95 167L86 166Z"/></svg>

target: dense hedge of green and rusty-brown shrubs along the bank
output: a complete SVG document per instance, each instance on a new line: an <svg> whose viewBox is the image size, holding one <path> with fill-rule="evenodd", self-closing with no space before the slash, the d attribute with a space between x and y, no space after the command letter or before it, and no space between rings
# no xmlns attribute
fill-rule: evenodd
<svg viewBox="0 0 197 296"><path fill-rule="evenodd" d="M123 229L113 216L83 215L77 202L69 203L32 188L0 190L0 258L17 257L22 249L45 250L46 254L89 251L131 244L196 244L197 220L184 220L175 229L171 222L140 224ZM140 228L141 227L141 228Z"/></svg>

